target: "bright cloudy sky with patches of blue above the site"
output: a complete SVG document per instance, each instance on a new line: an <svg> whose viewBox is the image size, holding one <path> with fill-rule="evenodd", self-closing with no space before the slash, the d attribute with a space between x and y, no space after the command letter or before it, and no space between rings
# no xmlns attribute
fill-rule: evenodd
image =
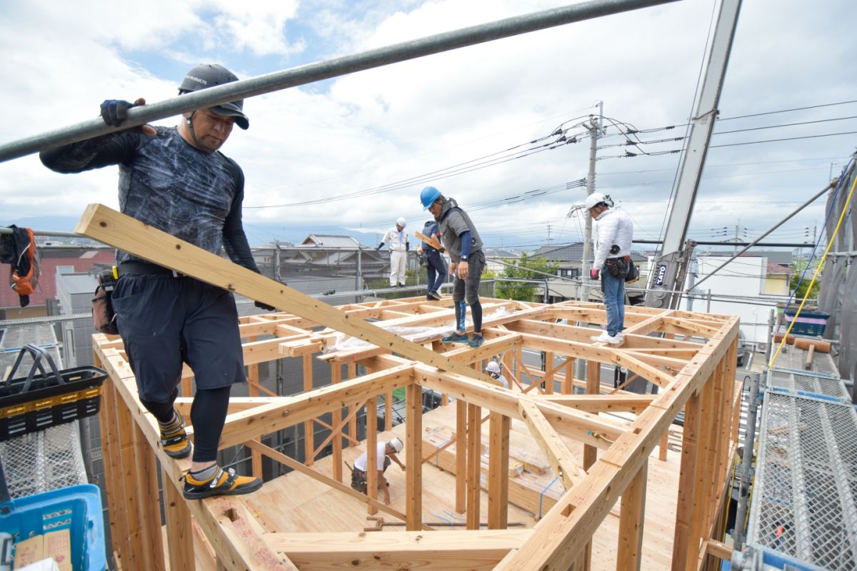
<svg viewBox="0 0 857 571"><path fill-rule="evenodd" d="M169 98L197 62L246 78L564 4L10 3L0 14L0 141L92 117L105 98ZM247 101L251 128L236 130L223 152L245 172L251 243L316 231L369 244L399 216L422 228L426 182L472 208L489 245L537 247L548 232L554 242L577 240L583 221L566 213L584 190L564 185L586 174L589 140L542 152L529 141L550 140L560 125L582 134L575 125L597 112L596 101L618 124L679 126L641 134L663 141L636 147L620 146L616 127L599 141L596 187L632 214L638 237L656 238L679 157L668 152L681 145L668 139L684 134L714 7L684 0ZM712 140L692 235L737 226L752 238L842 169L857 135L817 135L857 131L857 104L842 103L857 99L855 16L846 0L744 3L715 129L731 133ZM794 111L771 113L784 110ZM503 152L512 148L528 156L475 168L479 158L511 158ZM626 151L636 156L619 158ZM453 165L463 166L441 176ZM28 157L0 164L0 184L0 222L60 224L90 202L117 204L115 169L57 175ZM349 193L363 195L336 199ZM317 199L327 202L295 205ZM823 217L819 204L776 237L802 241Z"/></svg>

